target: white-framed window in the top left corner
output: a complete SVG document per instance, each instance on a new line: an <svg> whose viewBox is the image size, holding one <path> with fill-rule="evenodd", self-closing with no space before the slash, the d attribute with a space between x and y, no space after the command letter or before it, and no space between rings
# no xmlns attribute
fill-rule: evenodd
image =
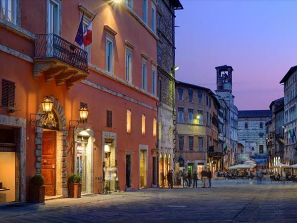
<svg viewBox="0 0 297 223"><path fill-rule="evenodd" d="M16 24L17 0L0 0L0 18Z"/></svg>

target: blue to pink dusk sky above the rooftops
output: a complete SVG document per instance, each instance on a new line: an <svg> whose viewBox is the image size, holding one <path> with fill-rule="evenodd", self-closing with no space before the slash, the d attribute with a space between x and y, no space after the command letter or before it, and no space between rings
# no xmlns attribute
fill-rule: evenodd
<svg viewBox="0 0 297 223"><path fill-rule="evenodd" d="M176 79L216 88L216 66L231 65L239 110L269 109L297 65L297 1L182 0L176 11Z"/></svg>

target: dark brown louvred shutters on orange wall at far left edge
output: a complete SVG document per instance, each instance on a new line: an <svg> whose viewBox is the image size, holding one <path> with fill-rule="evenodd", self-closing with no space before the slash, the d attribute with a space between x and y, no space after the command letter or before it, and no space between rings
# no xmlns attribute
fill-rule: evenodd
<svg viewBox="0 0 297 223"><path fill-rule="evenodd" d="M15 83L9 80L2 79L2 98L1 103L3 108L15 107Z"/></svg>

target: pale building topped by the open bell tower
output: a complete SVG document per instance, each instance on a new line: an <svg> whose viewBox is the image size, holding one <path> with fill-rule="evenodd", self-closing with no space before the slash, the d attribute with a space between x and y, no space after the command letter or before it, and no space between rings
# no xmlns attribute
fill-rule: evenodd
<svg viewBox="0 0 297 223"><path fill-rule="evenodd" d="M229 130L230 137L224 142L227 146L227 157L225 157L225 167L228 168L235 164L235 154L237 153L238 143L238 109L234 105L234 96L232 95L232 66L217 66L217 90L215 91L218 99L223 99L229 107ZM229 142L228 142L229 141Z"/></svg>

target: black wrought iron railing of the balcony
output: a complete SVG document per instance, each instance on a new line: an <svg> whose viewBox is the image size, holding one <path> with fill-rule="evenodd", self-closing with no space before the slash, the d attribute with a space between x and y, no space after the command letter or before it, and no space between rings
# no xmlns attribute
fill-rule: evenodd
<svg viewBox="0 0 297 223"><path fill-rule="evenodd" d="M56 34L36 35L34 53L34 58L57 58L88 71L88 53Z"/></svg>

